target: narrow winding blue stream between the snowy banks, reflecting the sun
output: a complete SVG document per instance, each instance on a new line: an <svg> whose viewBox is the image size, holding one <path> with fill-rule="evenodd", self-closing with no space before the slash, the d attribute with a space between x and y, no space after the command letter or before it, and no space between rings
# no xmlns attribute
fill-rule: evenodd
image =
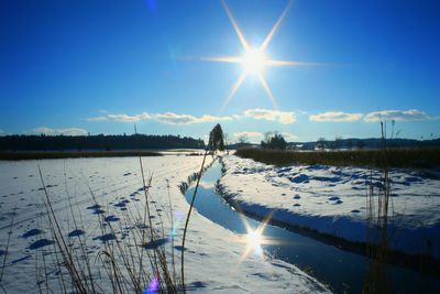
<svg viewBox="0 0 440 294"><path fill-rule="evenodd" d="M220 177L221 165L216 162L201 178L204 185L199 186L195 202L198 213L239 235L246 233L243 218L253 229L261 226L258 220L235 211L216 193L215 184ZM194 186L185 194L188 203L193 194ZM370 265L370 260L364 255L271 225L266 226L264 236L278 240L276 244L262 246L267 255L307 271L334 293L362 292L364 274ZM386 271L394 293L436 293L440 288L439 279L421 275L410 269L387 265Z"/></svg>

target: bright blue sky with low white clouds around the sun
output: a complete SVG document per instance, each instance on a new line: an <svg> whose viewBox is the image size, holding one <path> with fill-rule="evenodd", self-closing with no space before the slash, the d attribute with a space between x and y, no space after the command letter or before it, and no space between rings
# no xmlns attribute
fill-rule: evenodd
<svg viewBox="0 0 440 294"><path fill-rule="evenodd" d="M226 3L260 46L288 1ZM277 108L254 75L223 107L243 65L204 58L244 51L221 1L6 0L0 134L439 138L439 31L435 0L294 1L265 54L318 65L262 69Z"/></svg>

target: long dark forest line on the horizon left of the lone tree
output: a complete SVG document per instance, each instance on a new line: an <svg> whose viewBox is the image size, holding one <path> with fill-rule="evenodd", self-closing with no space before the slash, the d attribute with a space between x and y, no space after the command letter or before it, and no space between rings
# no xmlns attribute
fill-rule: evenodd
<svg viewBox="0 0 440 294"><path fill-rule="evenodd" d="M98 135L6 135L0 137L2 151L52 150L138 150L138 149L204 149L201 139L180 135L98 134Z"/></svg>

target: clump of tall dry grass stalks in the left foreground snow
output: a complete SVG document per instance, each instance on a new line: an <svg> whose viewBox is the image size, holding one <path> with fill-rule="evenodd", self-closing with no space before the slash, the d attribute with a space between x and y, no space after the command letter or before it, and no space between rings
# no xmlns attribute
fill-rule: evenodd
<svg viewBox="0 0 440 294"><path fill-rule="evenodd" d="M44 188L46 224L54 240L54 248L51 254L42 251L35 257L35 274L41 293L143 293L147 288L153 288L158 293L177 293L182 290L180 277L176 274L174 242L170 248L167 248L164 240L167 240L168 236L165 233L163 219L158 213L169 211L167 217L173 219L170 198L169 208L158 210L156 204L151 203L148 194L153 175L144 177L142 161L141 171L145 209L143 211L125 210L118 215L121 219L121 222L118 222L119 226L114 226L108 219L105 210L97 214L102 246L96 253L90 253L90 249L96 248L96 242L90 243L85 235L67 237L72 228L66 231L61 225L64 220L61 220L59 215L54 210L51 195ZM45 187L41 171L40 177ZM98 203L91 188L89 188L89 194L98 209L105 208L103 204ZM87 231L86 228L90 224L84 224L80 214L79 217L75 214L68 192L67 200L74 230ZM160 225L153 225L151 221L153 215L160 216ZM130 238L120 238L118 232L125 228L131 228ZM169 252L172 252L172 258L169 258ZM47 281L48 274L54 272L58 273L57 283Z"/></svg>

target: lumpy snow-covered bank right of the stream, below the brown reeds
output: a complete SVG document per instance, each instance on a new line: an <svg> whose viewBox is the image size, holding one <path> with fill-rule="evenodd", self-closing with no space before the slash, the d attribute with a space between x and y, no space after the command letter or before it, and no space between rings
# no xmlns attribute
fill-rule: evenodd
<svg viewBox="0 0 440 294"><path fill-rule="evenodd" d="M350 241L366 238L366 194L371 171L296 165L276 167L223 156L223 195L245 211ZM378 172L373 185L380 187ZM392 171L389 246L440 258L440 181L422 172ZM377 202L377 200L375 200Z"/></svg>

